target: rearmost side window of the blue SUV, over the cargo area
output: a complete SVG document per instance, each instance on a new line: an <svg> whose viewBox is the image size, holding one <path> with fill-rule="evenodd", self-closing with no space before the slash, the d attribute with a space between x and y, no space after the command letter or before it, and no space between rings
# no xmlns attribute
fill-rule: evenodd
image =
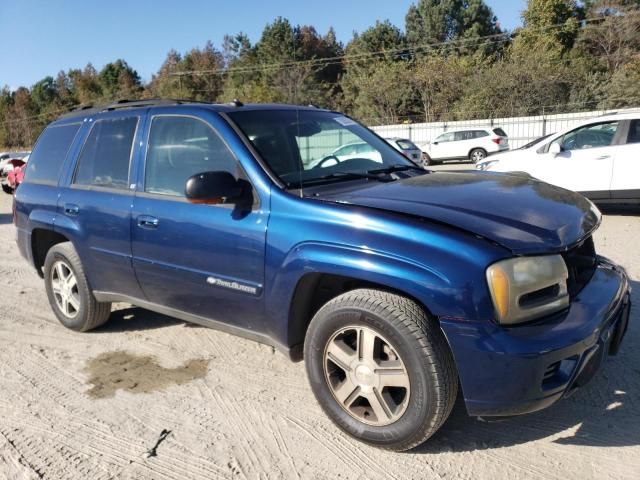
<svg viewBox="0 0 640 480"><path fill-rule="evenodd" d="M48 127L29 157L25 178L29 182L58 182L60 168L80 124Z"/></svg>

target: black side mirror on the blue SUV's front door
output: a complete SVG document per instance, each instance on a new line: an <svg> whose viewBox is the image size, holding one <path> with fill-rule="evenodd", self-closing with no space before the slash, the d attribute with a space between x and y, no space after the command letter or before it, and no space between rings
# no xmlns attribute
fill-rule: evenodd
<svg viewBox="0 0 640 480"><path fill-rule="evenodd" d="M191 203L216 205L236 203L242 198L243 188L229 172L203 172L189 177L184 191Z"/></svg>

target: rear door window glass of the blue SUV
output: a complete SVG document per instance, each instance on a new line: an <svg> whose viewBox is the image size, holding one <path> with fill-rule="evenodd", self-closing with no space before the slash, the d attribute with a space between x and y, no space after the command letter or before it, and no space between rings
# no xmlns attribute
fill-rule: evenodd
<svg viewBox="0 0 640 480"><path fill-rule="evenodd" d="M126 189L137 117L95 122L82 148L74 183Z"/></svg>

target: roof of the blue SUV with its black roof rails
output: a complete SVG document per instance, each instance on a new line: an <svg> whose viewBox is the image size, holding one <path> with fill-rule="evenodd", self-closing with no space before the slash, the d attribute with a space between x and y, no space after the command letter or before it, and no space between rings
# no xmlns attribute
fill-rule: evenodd
<svg viewBox="0 0 640 480"><path fill-rule="evenodd" d="M116 110L126 111L139 111L161 107L174 107L177 110L184 108L202 108L207 110L213 110L216 112L233 112L233 111L247 111L247 110L311 110L311 111L325 111L325 110L312 105L287 105L280 103L255 103L255 104L243 104L238 100L234 100L230 103L209 103L198 102L194 100L172 100L172 99L152 99L152 100L138 100L138 101L119 101L110 105L94 107L92 105L85 105L78 107L68 113L65 113L58 117L53 122L66 123L69 119L78 119L87 116L100 115L102 113L108 113ZM337 113L337 112L336 112ZM342 115L342 114L341 114Z"/></svg>

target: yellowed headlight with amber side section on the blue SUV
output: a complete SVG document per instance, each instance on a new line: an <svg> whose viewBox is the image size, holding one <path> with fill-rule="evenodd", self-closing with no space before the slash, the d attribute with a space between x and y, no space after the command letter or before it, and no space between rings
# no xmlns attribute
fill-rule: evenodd
<svg viewBox="0 0 640 480"><path fill-rule="evenodd" d="M560 255L515 257L487 268L496 317L512 325L569 306L567 266Z"/></svg>

